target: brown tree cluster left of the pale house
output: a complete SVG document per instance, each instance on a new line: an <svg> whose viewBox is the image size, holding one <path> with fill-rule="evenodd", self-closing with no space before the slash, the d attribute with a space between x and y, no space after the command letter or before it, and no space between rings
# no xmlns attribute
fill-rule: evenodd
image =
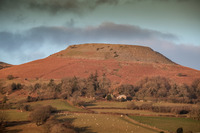
<svg viewBox="0 0 200 133"><path fill-rule="evenodd" d="M27 101L37 101L43 99L56 99L56 98L77 98L95 97L96 99L104 98L110 88L110 80L105 75L99 77L97 72L91 74L88 78L65 78L61 82L56 83L53 79L49 83L36 83L30 86L31 93L37 93L38 97L27 97Z"/></svg>

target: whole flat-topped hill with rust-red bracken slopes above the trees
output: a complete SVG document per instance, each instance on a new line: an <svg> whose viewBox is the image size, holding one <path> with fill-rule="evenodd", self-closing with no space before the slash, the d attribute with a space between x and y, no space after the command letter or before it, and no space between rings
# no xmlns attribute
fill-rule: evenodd
<svg viewBox="0 0 200 133"><path fill-rule="evenodd" d="M62 79L88 77L95 71L114 84L134 84L144 77L163 76L190 84L200 71L180 66L148 47L134 45L81 44L45 59L0 70L0 78Z"/></svg>

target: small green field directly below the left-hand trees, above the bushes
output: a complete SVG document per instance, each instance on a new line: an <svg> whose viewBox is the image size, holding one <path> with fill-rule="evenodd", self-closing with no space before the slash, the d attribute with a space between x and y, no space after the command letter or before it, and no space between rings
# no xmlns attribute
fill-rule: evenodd
<svg viewBox="0 0 200 133"><path fill-rule="evenodd" d="M55 100L44 100L44 101L37 101L37 102L30 102L32 107L36 107L38 105L51 105L52 107L57 108L57 110L61 111L83 111L81 108L74 107L70 105L66 100L62 99L55 99Z"/></svg>

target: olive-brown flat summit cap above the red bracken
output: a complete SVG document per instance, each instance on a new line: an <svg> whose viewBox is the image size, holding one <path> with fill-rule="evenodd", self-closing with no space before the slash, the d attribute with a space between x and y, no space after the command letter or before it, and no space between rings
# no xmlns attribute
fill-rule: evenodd
<svg viewBox="0 0 200 133"><path fill-rule="evenodd" d="M95 59L175 64L149 47L121 44L81 44L69 46L52 56L76 59Z"/></svg>

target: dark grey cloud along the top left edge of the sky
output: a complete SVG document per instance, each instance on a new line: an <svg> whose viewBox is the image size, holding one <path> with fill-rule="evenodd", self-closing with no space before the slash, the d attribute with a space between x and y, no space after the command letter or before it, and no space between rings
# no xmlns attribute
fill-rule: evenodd
<svg viewBox="0 0 200 133"><path fill-rule="evenodd" d="M28 10L47 11L53 14L62 11L83 13L101 5L116 5L119 0L0 0L0 10Z"/></svg>

